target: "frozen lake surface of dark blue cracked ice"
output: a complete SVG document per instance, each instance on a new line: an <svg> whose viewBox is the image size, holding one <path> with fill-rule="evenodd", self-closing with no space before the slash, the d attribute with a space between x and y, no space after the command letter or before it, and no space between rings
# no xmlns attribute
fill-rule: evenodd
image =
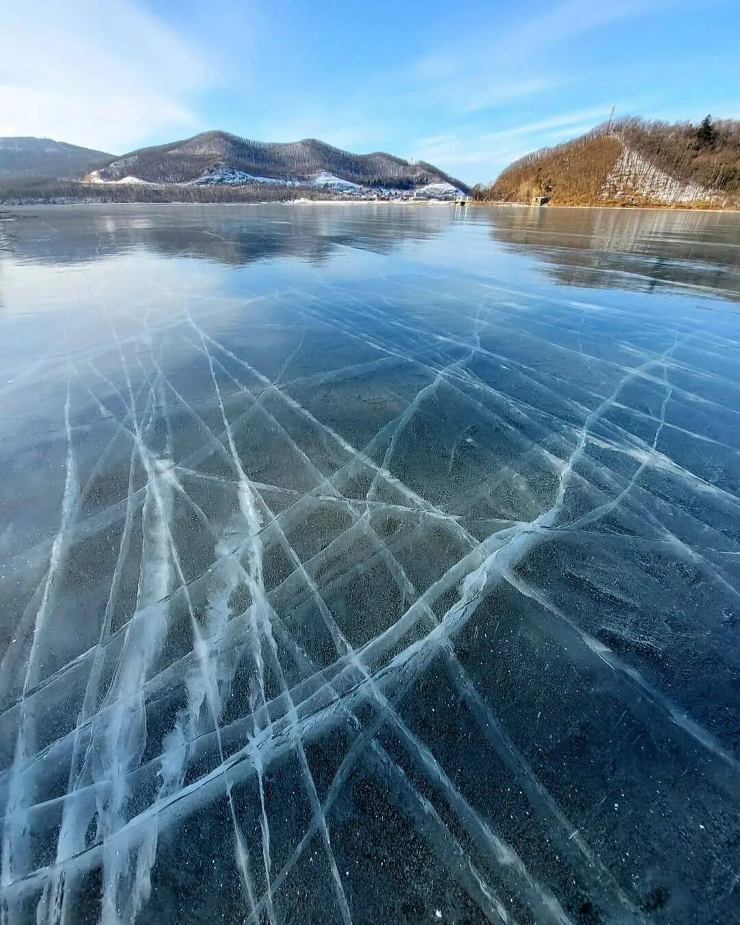
<svg viewBox="0 0 740 925"><path fill-rule="evenodd" d="M740 920L738 216L19 211L4 922Z"/></svg>

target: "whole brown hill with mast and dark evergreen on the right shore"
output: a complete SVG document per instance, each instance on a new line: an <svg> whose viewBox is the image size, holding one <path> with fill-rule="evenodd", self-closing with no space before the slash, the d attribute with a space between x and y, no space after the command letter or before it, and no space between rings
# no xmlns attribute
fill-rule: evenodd
<svg viewBox="0 0 740 925"><path fill-rule="evenodd" d="M558 205L740 207L740 120L623 118L526 154L473 196Z"/></svg>

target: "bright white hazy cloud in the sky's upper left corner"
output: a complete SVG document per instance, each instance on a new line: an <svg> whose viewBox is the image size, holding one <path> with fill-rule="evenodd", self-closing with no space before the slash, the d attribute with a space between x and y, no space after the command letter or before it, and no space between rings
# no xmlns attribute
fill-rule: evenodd
<svg viewBox="0 0 740 925"><path fill-rule="evenodd" d="M115 154L153 133L196 130L203 57L131 0L1 5L0 135L39 135Z"/></svg>

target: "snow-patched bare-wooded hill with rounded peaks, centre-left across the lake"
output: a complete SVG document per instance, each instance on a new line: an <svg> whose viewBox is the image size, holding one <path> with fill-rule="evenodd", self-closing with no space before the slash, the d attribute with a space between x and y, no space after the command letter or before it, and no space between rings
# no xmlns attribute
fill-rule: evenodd
<svg viewBox="0 0 740 925"><path fill-rule="evenodd" d="M89 178L98 182L126 178L148 183L236 182L242 178L306 182L321 175L349 184L412 190L449 182L467 188L437 167L410 163L392 154L350 154L325 142L253 142L223 131L208 131L182 142L125 154Z"/></svg>

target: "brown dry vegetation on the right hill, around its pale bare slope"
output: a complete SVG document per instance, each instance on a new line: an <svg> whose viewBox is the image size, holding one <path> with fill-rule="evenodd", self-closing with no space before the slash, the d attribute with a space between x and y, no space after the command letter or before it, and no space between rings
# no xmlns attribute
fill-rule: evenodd
<svg viewBox="0 0 740 925"><path fill-rule="evenodd" d="M690 203L717 208L740 203L740 121L725 119L700 125L669 124L623 118L598 126L580 138L526 154L506 167L487 187L475 187L474 199L528 203L548 196L555 205L640 204L636 194L611 203L603 188L623 144L675 179L697 183L721 195ZM683 203L683 208L686 203Z"/></svg>

